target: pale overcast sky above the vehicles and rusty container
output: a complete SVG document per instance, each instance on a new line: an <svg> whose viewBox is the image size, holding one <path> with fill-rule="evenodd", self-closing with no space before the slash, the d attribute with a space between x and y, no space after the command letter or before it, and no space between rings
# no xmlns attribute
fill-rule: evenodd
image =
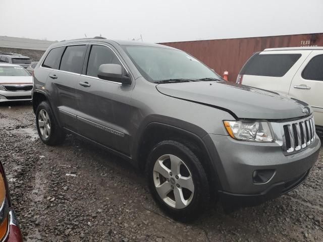
<svg viewBox="0 0 323 242"><path fill-rule="evenodd" d="M323 32L322 0L0 0L0 35L171 42Z"/></svg>

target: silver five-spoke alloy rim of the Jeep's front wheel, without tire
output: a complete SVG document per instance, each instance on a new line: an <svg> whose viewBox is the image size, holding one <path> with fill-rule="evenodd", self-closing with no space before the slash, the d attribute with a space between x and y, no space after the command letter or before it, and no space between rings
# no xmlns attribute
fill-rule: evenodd
<svg viewBox="0 0 323 242"><path fill-rule="evenodd" d="M153 167L153 179L159 197L170 207L186 208L194 195L192 174L179 157L160 156Z"/></svg>

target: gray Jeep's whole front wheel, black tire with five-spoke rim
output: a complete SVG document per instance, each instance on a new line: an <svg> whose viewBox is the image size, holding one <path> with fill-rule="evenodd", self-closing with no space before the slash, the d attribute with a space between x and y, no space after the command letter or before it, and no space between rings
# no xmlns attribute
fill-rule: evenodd
<svg viewBox="0 0 323 242"><path fill-rule="evenodd" d="M146 164L152 197L169 216L183 222L195 220L210 203L206 173L188 147L162 141L152 148Z"/></svg>

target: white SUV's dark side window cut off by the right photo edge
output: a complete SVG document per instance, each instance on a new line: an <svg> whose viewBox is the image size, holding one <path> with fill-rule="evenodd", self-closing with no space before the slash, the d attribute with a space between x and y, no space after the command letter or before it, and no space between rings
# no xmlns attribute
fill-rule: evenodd
<svg viewBox="0 0 323 242"><path fill-rule="evenodd" d="M323 54L314 56L304 68L302 78L323 81Z"/></svg>

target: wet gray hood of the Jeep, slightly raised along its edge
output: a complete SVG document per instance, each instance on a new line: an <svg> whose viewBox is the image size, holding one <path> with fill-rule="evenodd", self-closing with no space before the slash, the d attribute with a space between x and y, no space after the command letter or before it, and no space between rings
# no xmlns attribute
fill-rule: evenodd
<svg viewBox="0 0 323 242"><path fill-rule="evenodd" d="M235 118L288 119L312 112L300 100L229 82L170 83L156 88L171 97L226 110Z"/></svg>

